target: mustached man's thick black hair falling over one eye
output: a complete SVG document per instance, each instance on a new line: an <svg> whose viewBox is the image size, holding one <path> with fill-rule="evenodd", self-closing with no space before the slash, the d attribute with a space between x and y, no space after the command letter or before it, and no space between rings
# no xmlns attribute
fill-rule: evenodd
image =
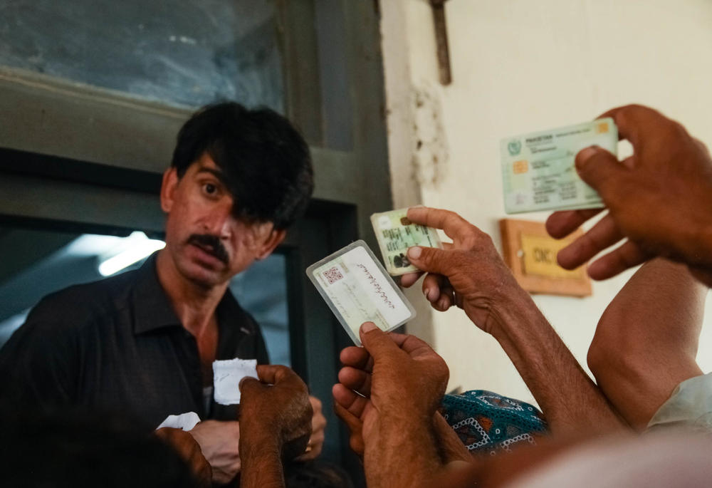
<svg viewBox="0 0 712 488"><path fill-rule="evenodd" d="M314 190L309 147L282 115L235 102L208 105L178 133L172 166L182 177L208 153L234 198L236 217L286 229Z"/></svg>

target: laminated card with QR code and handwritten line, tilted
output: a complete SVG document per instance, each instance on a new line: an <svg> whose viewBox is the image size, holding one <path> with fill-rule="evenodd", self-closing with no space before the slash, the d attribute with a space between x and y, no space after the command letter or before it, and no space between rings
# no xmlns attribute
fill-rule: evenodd
<svg viewBox="0 0 712 488"><path fill-rule="evenodd" d="M413 306L363 241L312 264L307 276L357 346L362 323L373 322L387 332L415 316Z"/></svg>

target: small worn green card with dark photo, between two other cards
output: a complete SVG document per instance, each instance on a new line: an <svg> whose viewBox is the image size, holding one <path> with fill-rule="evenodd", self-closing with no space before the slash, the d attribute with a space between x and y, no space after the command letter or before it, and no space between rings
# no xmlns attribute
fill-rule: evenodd
<svg viewBox="0 0 712 488"><path fill-rule="evenodd" d="M371 215L373 232L391 276L419 271L408 261L409 247L443 247L435 229L410 222L407 214L408 209L398 209Z"/></svg>

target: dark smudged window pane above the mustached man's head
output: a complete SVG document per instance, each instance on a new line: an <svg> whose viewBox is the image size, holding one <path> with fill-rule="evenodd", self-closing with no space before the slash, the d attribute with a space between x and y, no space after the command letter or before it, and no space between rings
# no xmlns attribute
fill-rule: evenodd
<svg viewBox="0 0 712 488"><path fill-rule="evenodd" d="M0 65L170 105L284 111L271 0L0 0Z"/></svg>

